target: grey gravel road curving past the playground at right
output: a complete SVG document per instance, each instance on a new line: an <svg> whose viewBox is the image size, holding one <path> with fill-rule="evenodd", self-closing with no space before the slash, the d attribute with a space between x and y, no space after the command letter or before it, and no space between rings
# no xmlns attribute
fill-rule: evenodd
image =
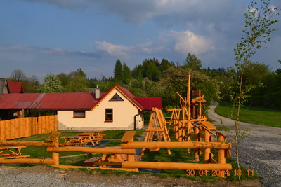
<svg viewBox="0 0 281 187"><path fill-rule="evenodd" d="M220 121L230 129L234 129L233 120L214 113L218 103L211 105L209 117L214 125ZM240 141L240 163L248 169L254 169L261 176L260 182L264 186L281 186L281 128L241 123L240 130L246 132L246 138ZM229 133L235 137L235 133ZM232 158L236 157L235 143L233 143Z"/></svg>

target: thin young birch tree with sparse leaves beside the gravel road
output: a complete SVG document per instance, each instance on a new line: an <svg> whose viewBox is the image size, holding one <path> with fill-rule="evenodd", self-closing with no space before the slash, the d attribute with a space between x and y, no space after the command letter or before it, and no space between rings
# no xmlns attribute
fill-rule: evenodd
<svg viewBox="0 0 281 187"><path fill-rule="evenodd" d="M235 117L235 147L238 169L240 169L238 150L239 137L241 135L239 129L240 107L243 99L247 97L247 92L251 90L251 86L244 87L243 85L245 67L247 67L249 59L256 53L257 49L266 48L262 47L262 44L270 41L270 34L278 29L272 27L278 22L278 20L274 19L277 15L279 15L279 13L277 13L277 8L270 6L269 0L261 0L259 2L256 0L251 1L247 12L244 13L245 25L241 41L237 43L237 48L234 50L236 60L235 67L237 70L235 78L239 90L236 97L233 98L234 106L237 105L237 116Z"/></svg>

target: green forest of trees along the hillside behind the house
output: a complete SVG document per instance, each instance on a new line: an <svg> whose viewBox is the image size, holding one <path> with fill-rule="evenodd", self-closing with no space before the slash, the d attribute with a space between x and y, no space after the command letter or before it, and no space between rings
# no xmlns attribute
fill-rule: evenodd
<svg viewBox="0 0 281 187"><path fill-rule="evenodd" d="M281 63L281 62L280 62ZM191 74L192 90L201 90L211 102L230 102L230 94L235 79L240 74L233 68L202 67L195 55L188 53L185 64L169 62L166 59L145 59L132 70L125 62L115 62L114 76L111 78L87 78L82 69L68 74L48 74L43 83L36 76L27 77L20 69L15 69L8 81L23 82L25 92L89 92L89 88L99 85L100 92L107 92L112 85L128 88L136 97L162 97L164 109L178 106L178 95L186 95L188 74ZM247 106L281 109L281 68L270 71L270 67L259 62L249 62L244 71L243 86L251 85L251 92L244 102Z"/></svg>

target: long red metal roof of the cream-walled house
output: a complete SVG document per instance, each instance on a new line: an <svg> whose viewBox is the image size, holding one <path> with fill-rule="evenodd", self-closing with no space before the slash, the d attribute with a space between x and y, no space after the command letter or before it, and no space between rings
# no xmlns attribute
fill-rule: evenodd
<svg viewBox="0 0 281 187"><path fill-rule="evenodd" d="M152 107L162 109L161 98L138 98L119 85L113 86L106 93L100 92L100 99L95 99L95 93L90 92L2 94L0 109L90 110L115 88L141 110L151 110Z"/></svg>

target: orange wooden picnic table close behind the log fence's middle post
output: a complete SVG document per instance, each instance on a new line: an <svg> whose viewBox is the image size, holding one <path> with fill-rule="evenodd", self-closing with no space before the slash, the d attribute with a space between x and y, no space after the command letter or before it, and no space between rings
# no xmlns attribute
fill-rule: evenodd
<svg viewBox="0 0 281 187"><path fill-rule="evenodd" d="M121 148L121 147L115 146L115 147L105 147L105 148ZM127 154L104 153L102 157L93 157L93 158L90 158L89 160L85 160L84 163L86 166L122 165L122 162L124 162L126 160L128 160ZM134 160L136 162L140 161L141 155L135 155Z"/></svg>

